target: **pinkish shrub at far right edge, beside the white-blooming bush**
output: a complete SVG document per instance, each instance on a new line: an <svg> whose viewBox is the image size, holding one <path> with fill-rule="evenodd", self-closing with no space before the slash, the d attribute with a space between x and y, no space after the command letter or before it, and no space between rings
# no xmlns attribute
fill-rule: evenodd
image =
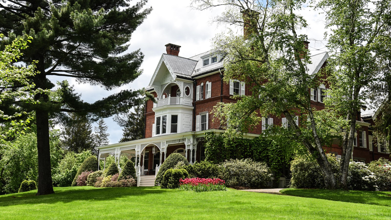
<svg viewBox="0 0 391 220"><path fill-rule="evenodd" d="M368 164L368 169L377 177L376 185L380 191L391 191L391 162L380 158Z"/></svg>

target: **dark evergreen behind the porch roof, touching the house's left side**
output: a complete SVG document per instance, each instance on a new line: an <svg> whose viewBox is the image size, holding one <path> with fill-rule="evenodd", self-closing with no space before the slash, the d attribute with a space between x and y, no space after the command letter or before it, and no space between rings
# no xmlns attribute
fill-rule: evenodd
<svg viewBox="0 0 391 220"><path fill-rule="evenodd" d="M145 105L143 104L135 106L133 112L115 116L114 121L124 127L120 142L138 140L144 137L144 113Z"/></svg>

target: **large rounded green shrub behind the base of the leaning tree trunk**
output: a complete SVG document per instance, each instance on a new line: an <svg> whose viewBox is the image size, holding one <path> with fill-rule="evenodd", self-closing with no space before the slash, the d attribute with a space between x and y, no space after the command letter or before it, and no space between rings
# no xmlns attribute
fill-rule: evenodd
<svg viewBox="0 0 391 220"><path fill-rule="evenodd" d="M335 174L339 164L334 155L327 154ZM294 188L325 188L325 180L319 164L313 157L298 157L291 162L291 185Z"/></svg>

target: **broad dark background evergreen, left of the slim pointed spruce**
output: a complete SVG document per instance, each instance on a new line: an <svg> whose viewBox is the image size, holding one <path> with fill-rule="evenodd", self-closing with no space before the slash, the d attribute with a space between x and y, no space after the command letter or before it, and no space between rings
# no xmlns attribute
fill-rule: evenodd
<svg viewBox="0 0 391 220"><path fill-rule="evenodd" d="M84 150L95 151L91 123L86 116L70 113L63 127L63 148L80 153Z"/></svg>

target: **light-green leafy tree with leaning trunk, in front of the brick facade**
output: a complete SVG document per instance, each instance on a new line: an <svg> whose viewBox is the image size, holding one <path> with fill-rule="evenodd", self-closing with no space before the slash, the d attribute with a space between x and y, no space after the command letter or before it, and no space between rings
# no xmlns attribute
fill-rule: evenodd
<svg viewBox="0 0 391 220"><path fill-rule="evenodd" d="M224 13L216 21L245 30L244 37L228 29L214 40L216 50L226 54L223 80L229 83L230 79L238 79L249 88L248 96L234 96L236 103L215 106L215 117L226 128L225 145L229 146L237 132L253 130L262 117L285 117L289 129L270 127L264 133L278 144L291 139L292 146L303 146L319 163L326 188L337 188L323 150L335 137L337 122L325 120L328 112L320 113L311 106L310 88L319 86L321 76L308 73L309 51L303 44L307 36L297 33L307 27L296 13L304 1L194 0L192 4L200 10L224 6ZM294 115L301 115L299 124ZM289 157L291 152L286 152L283 157Z"/></svg>

